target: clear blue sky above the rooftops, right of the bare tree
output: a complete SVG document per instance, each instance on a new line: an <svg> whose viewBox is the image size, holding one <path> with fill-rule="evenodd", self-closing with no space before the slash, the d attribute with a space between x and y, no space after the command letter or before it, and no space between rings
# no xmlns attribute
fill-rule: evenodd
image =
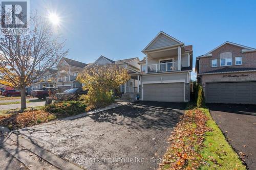
<svg viewBox="0 0 256 170"><path fill-rule="evenodd" d="M193 45L193 67L196 57L225 41L256 47L256 1L30 0L35 9L60 17L67 57L84 63L100 55L142 59L160 31Z"/></svg>

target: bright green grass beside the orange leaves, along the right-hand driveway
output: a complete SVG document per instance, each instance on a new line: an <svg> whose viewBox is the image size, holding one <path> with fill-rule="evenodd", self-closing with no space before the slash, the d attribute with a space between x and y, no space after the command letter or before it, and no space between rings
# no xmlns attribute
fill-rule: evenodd
<svg viewBox="0 0 256 170"><path fill-rule="evenodd" d="M211 118L209 110L207 108L200 109L209 117L206 125L212 129L212 132L205 134L205 147L201 151L201 155L207 163L199 169L246 169L238 154L233 151L225 136Z"/></svg>

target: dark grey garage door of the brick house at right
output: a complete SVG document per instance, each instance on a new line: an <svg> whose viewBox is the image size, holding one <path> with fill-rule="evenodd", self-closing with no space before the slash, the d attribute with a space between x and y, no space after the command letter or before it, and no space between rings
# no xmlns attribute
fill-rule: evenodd
<svg viewBox="0 0 256 170"><path fill-rule="evenodd" d="M206 102L256 104L256 82L206 83Z"/></svg>

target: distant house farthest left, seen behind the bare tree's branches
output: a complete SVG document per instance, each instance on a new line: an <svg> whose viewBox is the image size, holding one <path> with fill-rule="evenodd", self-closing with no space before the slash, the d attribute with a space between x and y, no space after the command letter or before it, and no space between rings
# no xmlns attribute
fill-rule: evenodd
<svg viewBox="0 0 256 170"><path fill-rule="evenodd" d="M44 75L41 75L33 81L31 90L42 89L45 87L54 87L57 81L57 72L57 69L48 69Z"/></svg>

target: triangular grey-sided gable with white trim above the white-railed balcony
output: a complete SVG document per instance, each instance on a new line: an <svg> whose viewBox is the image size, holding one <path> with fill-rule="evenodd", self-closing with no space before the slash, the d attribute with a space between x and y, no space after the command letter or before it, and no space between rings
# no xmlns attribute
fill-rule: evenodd
<svg viewBox="0 0 256 170"><path fill-rule="evenodd" d="M146 52L148 50L155 50L158 48L169 47L176 44L183 44L183 42L178 39L160 31L157 36L142 50Z"/></svg>

